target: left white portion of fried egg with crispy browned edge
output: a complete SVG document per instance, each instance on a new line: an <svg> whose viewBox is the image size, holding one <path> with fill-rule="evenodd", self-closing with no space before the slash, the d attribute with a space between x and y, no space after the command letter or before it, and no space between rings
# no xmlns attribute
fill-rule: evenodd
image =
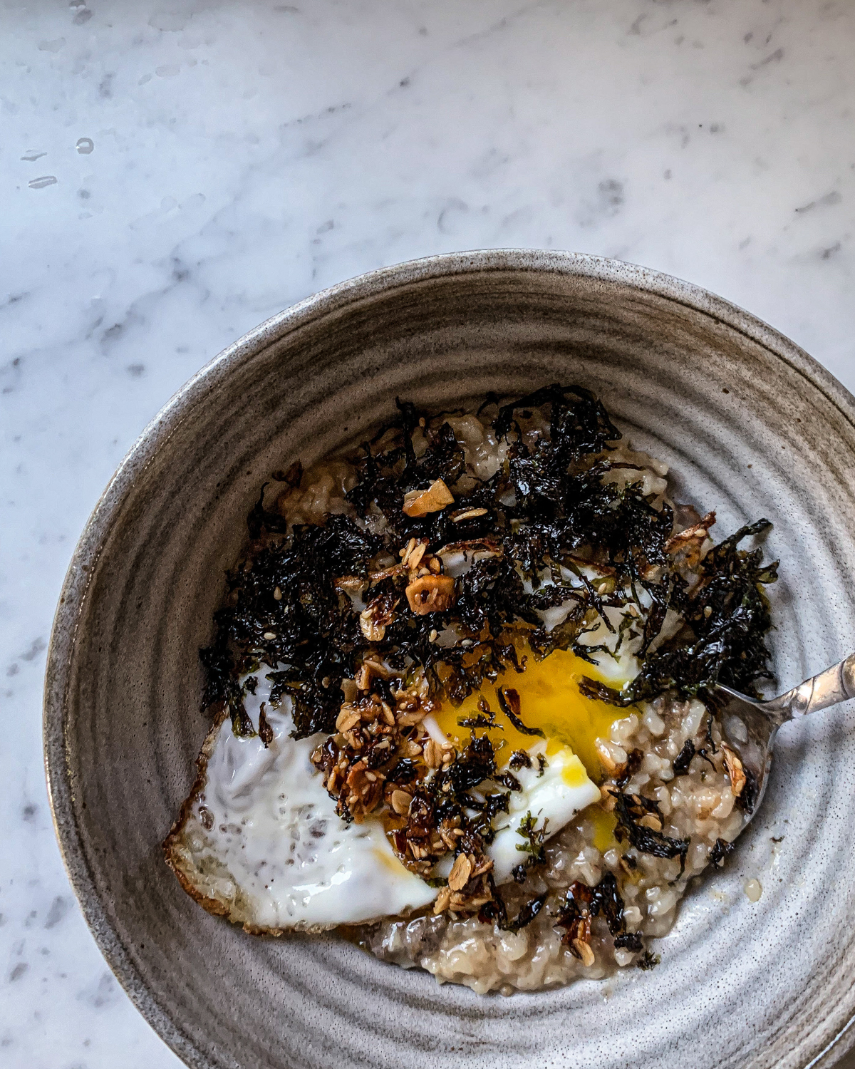
<svg viewBox="0 0 855 1069"><path fill-rule="evenodd" d="M262 665L245 708L253 727L265 702L273 730L238 738L227 717L203 749L206 762L167 841L195 898L250 930L318 931L426 905L436 888L407 871L378 820L345 824L309 757L324 734L292 739L291 699L269 703Z"/></svg>

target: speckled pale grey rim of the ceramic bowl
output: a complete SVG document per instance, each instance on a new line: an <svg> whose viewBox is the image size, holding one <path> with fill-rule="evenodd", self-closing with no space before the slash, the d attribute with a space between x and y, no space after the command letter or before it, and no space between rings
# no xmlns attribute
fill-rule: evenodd
<svg viewBox="0 0 855 1069"><path fill-rule="evenodd" d="M233 371L287 335L367 298L457 275L528 273L582 277L618 283L702 312L788 363L819 389L855 427L855 397L800 346L714 293L662 272L587 253L544 249L477 249L442 253L380 267L322 290L247 331L192 375L143 429L98 498L75 547L60 592L45 668L43 747L48 801L60 854L86 921L107 963L134 1005L157 1035L193 1069L211 1069L202 1050L182 1031L144 978L114 929L96 880L81 849L75 819L74 789L67 760L66 692L75 648L84 636L79 617L113 518L134 493L137 475L167 444L175 427L209 390ZM855 1017L837 1031L828 1027L825 1045L804 1069L830 1065L855 1043Z"/></svg>

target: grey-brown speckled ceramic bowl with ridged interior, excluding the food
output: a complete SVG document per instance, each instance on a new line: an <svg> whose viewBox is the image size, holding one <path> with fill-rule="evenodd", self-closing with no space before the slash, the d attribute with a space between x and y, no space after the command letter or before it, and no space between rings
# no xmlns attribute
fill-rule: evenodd
<svg viewBox="0 0 855 1069"><path fill-rule="evenodd" d="M746 312L623 263L488 251L378 270L268 320L119 468L72 561L47 668L72 883L116 976L188 1065L788 1069L835 1064L855 1039L848 707L783 729L762 811L650 972L480 997L332 936L246 935L164 863L206 730L197 651L260 483L358 438L395 394L458 406L554 381L596 390L671 464L682 499L718 509L719 530L774 522L781 684L855 649L855 400Z"/></svg>

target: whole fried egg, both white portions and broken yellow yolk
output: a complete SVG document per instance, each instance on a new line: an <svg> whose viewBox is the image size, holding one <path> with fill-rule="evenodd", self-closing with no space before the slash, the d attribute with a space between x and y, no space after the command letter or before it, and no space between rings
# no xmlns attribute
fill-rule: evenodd
<svg viewBox="0 0 855 1069"><path fill-rule="evenodd" d="M496 834L486 852L497 884L510 880L525 861L528 840L522 826L529 816L530 826L549 838L598 801L594 742L607 734L617 711L584 697L578 680L593 675L613 685L620 667L626 669L597 669L558 650L543 662L529 655L524 671L511 669L498 681L517 691L525 725L545 738L525 734L500 713L486 729L500 770L508 770L519 750L530 762L514 769L520 789L510 793L509 811L494 818ZM258 734L235 735L228 717L218 724L203 747L200 778L167 841L185 889L211 912L251 931L320 931L428 907L437 887L401 864L383 822L369 818L346 824L336 814L310 761L326 735L291 738L291 699L278 708L270 704L269 670L260 666L255 694L245 698L256 731L265 706L273 732L268 746ZM469 730L457 722L477 714L480 698L498 709L496 685L487 683L456 709L440 707L424 727L437 741L464 746ZM447 876L450 861L444 858L434 876Z"/></svg>

